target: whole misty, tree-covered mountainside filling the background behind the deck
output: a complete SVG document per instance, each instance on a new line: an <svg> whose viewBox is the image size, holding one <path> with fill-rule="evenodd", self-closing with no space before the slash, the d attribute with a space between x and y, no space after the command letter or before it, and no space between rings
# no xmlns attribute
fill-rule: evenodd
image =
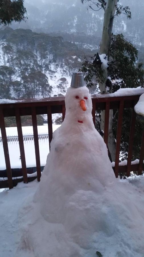
<svg viewBox="0 0 144 257"><path fill-rule="evenodd" d="M138 62L144 62L144 3L119 3L129 5L132 19L116 17L114 33L126 35L139 50ZM99 51L104 13L87 10L88 3L80 0L24 4L26 22L0 27L0 98L65 95L72 72L81 68L85 56L89 59Z"/></svg>

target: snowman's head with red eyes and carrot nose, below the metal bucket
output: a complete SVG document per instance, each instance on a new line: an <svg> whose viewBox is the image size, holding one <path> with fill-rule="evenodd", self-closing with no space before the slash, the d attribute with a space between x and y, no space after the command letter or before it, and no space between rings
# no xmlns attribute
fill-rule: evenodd
<svg viewBox="0 0 144 257"><path fill-rule="evenodd" d="M92 100L87 87L69 87L65 96L66 114L83 123L92 112Z"/></svg>

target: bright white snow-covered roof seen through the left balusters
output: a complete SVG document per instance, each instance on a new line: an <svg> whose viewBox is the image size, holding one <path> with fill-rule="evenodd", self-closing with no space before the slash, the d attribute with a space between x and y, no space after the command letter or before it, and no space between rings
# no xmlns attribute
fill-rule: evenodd
<svg viewBox="0 0 144 257"><path fill-rule="evenodd" d="M53 124L53 132L60 125ZM20 149L18 143L18 133L17 127L6 128L7 141L9 148L9 157L11 162L11 168L21 168L20 160ZM34 148L34 137L33 137L33 127L22 127L22 134L24 140L24 152L26 158L26 167L36 167L36 157ZM49 139L48 139L48 125L38 126L38 142L40 149L40 164L45 166L46 158L49 153ZM1 138L0 130L0 170L5 170L5 156L3 152L3 143Z"/></svg>

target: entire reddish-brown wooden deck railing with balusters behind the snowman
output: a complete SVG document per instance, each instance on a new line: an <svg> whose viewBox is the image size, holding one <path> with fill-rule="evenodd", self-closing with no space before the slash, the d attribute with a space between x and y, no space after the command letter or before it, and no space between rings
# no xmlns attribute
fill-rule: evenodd
<svg viewBox="0 0 144 257"><path fill-rule="evenodd" d="M126 172L126 176L130 175L131 171L137 171L138 174L142 173L144 170L143 159L144 159L144 130L142 135L142 143L140 149L140 157L139 164L131 165L132 159L132 148L133 148L133 137L135 130L135 120L136 113L134 111L134 106L139 100L140 95L133 96L123 96L123 97L111 97L111 95L96 95L92 97L92 117L95 125L95 114L96 111L105 110L105 127L104 127L104 141L106 145L108 145L108 122L109 122L109 110L110 109L119 109L118 116L118 126L117 126L117 138L116 138L116 160L114 172L116 177L118 177L119 172ZM37 170L37 180L40 181L41 170L40 170L40 152L39 152L39 144L38 144L38 129L37 129L37 119L36 115L38 114L47 114L48 116L48 134L49 134L49 144L52 140L52 114L53 113L62 113L62 119L65 117L65 101L64 97L51 97L44 98L42 100L25 100L16 103L5 103L0 104L0 127L1 127L1 135L3 141L3 149L5 155L5 163L7 170L7 180L3 182L3 186L0 187L8 187L13 188L17 184L19 179L13 180L11 173L11 163L9 158L9 149L7 143L7 135L5 129L5 121L4 117L16 117L17 130L18 130L18 141L20 147L20 156L22 163L22 173L23 173L23 182L27 183L32 180L27 177L26 170L26 160L24 153L24 143L22 136L22 126L21 126L21 116L31 115L32 116L32 126L34 132L34 146L35 146L35 155L36 155L36 170ZM131 117L131 129L129 134L129 150L128 150L128 159L127 165L119 166L119 158L120 158L120 143L121 143L121 133L122 133L122 119L123 119L123 111L124 108L133 108L132 117Z"/></svg>

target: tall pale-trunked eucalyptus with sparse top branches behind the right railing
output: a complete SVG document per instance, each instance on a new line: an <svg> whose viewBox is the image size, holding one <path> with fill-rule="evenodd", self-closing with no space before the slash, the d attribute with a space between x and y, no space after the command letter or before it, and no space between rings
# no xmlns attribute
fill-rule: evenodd
<svg viewBox="0 0 144 257"><path fill-rule="evenodd" d="M86 81L90 82L92 80L92 76L95 74L97 78L97 82L99 84L100 93L108 94L112 93L112 81L109 77L108 72L108 61L109 61L109 49L112 40L112 28L114 17L120 15L121 13L125 13L128 19L131 19L131 12L128 6L123 7L118 4L119 0L81 0L82 3L87 2L89 4L89 8L98 11L100 9L104 10L104 22L103 22L103 30L102 30L102 38L100 43L100 55L95 55L96 58L93 59L93 65L91 65L92 72L86 77ZM87 60L86 60L87 62ZM86 72L88 69L86 68L87 63L84 64L82 71ZM89 67L90 68L90 67ZM100 129L104 131L104 117L105 111L101 111L101 122ZM112 119L113 119L113 111L110 110L109 116L109 128L108 128L108 148L111 154L112 161L115 160L115 140L112 131Z"/></svg>

